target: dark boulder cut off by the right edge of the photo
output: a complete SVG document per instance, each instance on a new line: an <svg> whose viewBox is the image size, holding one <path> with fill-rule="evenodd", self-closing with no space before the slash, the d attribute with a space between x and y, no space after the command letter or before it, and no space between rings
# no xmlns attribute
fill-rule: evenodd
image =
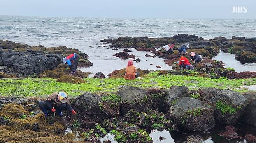
<svg viewBox="0 0 256 143"><path fill-rule="evenodd" d="M242 122L256 126L256 98L249 101L242 116Z"/></svg>

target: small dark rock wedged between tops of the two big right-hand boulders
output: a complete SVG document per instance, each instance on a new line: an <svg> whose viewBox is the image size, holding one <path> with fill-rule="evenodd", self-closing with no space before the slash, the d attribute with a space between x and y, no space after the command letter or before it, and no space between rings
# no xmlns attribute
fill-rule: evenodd
<svg viewBox="0 0 256 143"><path fill-rule="evenodd" d="M219 92L221 89L214 87L201 87L198 89L202 101L209 101L214 97L214 95Z"/></svg>

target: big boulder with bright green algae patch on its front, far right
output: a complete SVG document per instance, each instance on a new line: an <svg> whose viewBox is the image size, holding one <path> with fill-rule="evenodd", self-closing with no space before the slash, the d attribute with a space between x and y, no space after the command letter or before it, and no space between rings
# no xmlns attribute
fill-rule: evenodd
<svg viewBox="0 0 256 143"><path fill-rule="evenodd" d="M246 98L238 92L226 89L215 94L209 102L214 107L216 123L233 125L244 113Z"/></svg>

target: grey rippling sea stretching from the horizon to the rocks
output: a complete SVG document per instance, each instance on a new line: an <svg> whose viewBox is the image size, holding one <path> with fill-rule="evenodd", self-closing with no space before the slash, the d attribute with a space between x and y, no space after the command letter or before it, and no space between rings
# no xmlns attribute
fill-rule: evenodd
<svg viewBox="0 0 256 143"><path fill-rule="evenodd" d="M0 16L1 40L8 39L29 45L42 44L46 47L67 46L76 48L89 54L89 60L92 62L102 62L101 66L107 60L121 62L120 67L116 66L115 68L123 67L122 64L126 61L109 55L113 53L111 49L97 48L98 45L96 44L100 43L101 39L114 39L121 36L172 37L180 33L195 34L198 37L210 39L219 36L228 39L232 36L256 38L256 19L115 19ZM99 55L100 57L97 57ZM109 64L109 62L106 63ZM94 65L96 68L97 63L94 64L96 64ZM163 62L159 63L160 66L163 64ZM100 66L98 66L98 69L100 70ZM114 68L110 70L114 70Z"/></svg>

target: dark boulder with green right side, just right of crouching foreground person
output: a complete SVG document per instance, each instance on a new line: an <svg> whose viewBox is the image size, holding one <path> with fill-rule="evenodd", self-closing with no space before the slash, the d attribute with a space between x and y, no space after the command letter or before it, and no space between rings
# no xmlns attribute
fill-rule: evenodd
<svg viewBox="0 0 256 143"><path fill-rule="evenodd" d="M72 106L78 111L81 119L90 117L97 121L98 118L103 120L119 115L120 100L120 97L114 94L98 95L86 92L74 99Z"/></svg>

